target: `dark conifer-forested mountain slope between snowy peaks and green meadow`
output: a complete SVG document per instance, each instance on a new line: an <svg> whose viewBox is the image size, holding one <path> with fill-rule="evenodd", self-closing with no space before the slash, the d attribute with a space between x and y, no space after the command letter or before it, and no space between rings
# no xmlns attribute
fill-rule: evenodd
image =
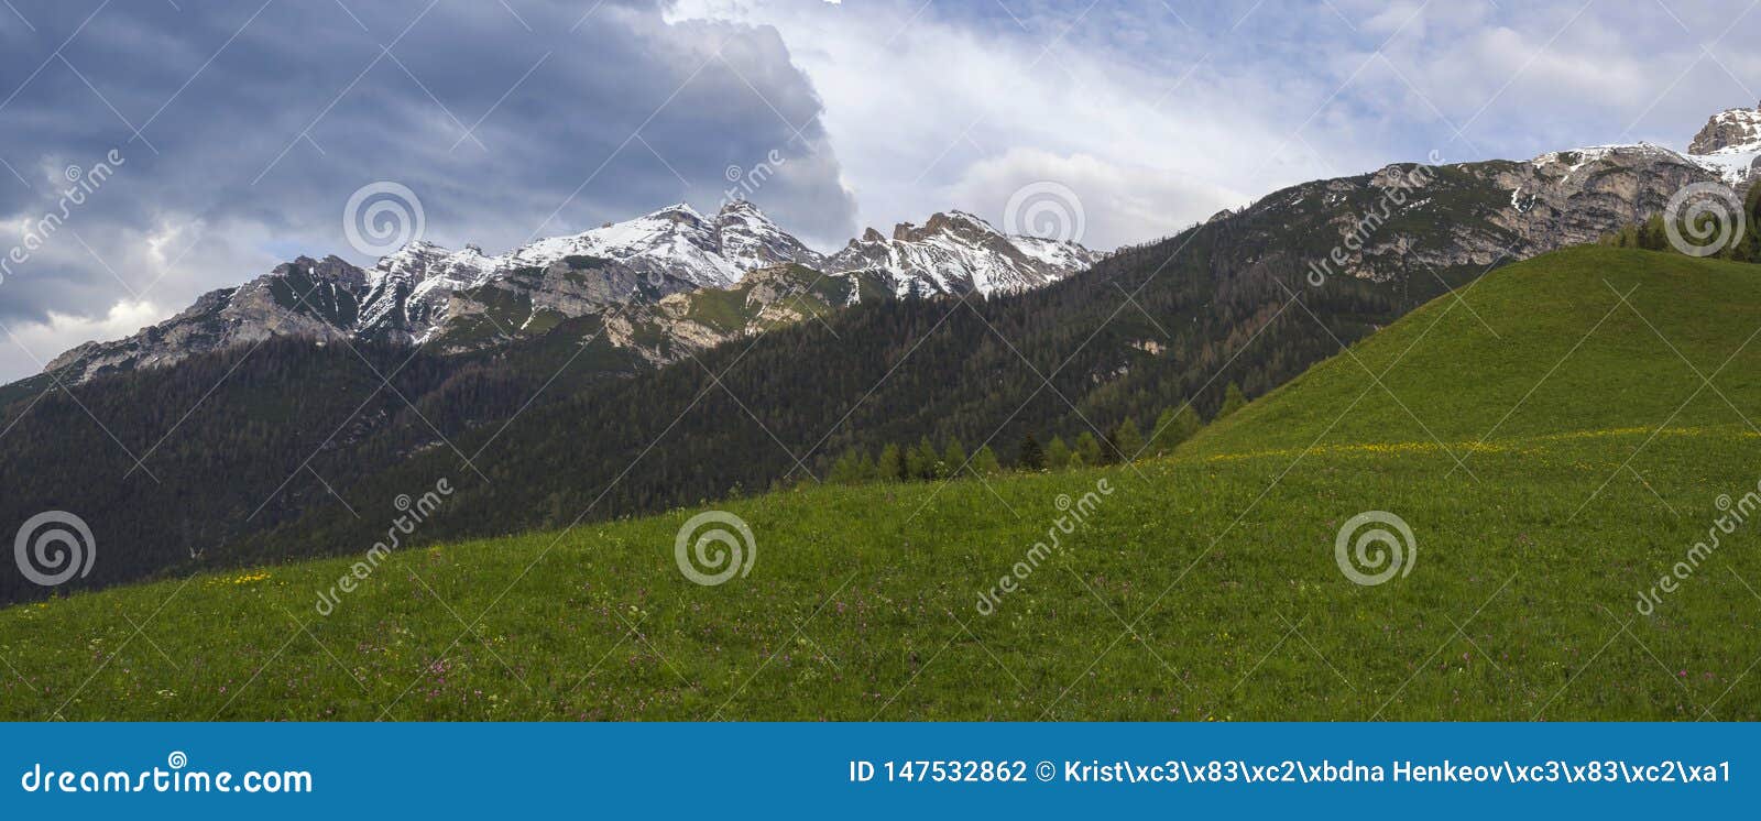
<svg viewBox="0 0 1761 821"><path fill-rule="evenodd" d="M1079 277L995 298L909 289L895 300L884 270L782 266L733 289L652 291L595 312L595 284L648 282L623 263L571 255L451 294L451 329L414 359L437 377L419 386L380 389L396 359L368 366L352 351L315 351L349 374L324 381L342 386L333 412L301 419L319 432L306 453L266 444L282 433L264 437L275 423L248 414L296 405L289 393L310 388L268 379L252 358L206 359L197 368L210 382L187 398L162 389L185 377L157 372L79 386L79 402L37 402L55 389L44 381L14 386L0 409L11 430L0 479L21 490L0 495L0 516L130 511L129 560L85 580L102 585L342 551L373 537L359 509L442 476L461 488L461 513L426 541L814 483L847 451L873 458L925 437L967 453L990 446L1011 463L1028 433L1106 440L1187 402L1212 414L1229 384L1259 396L1449 287L1638 222L1712 174L1647 146L1389 166L1271 194ZM248 389L201 400L241 361L241 375L257 375ZM81 403L107 410L93 423ZM67 426L90 432L74 460ZM150 477L132 462L141 453ZM162 463L167 455L176 463ZM53 481L39 481L42 470ZM192 497L236 516L192 529L174 516ZM37 595L0 574L0 601Z"/></svg>

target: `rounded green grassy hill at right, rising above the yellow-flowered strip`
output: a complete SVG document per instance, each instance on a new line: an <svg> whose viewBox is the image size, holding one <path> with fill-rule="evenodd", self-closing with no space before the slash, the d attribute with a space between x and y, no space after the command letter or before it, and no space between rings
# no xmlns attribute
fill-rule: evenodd
<svg viewBox="0 0 1761 821"><path fill-rule="evenodd" d="M1189 447L1300 453L1315 442L1430 440L1472 467L1481 447L1506 440L1648 432L1664 423L1761 439L1740 416L1761 418L1750 402L1761 398L1761 379L1747 366L1761 356L1757 277L1752 264L1601 247L1502 268L1463 289L1460 303L1444 298L1416 310ZM1601 326L1585 324L1592 312ZM1585 340L1590 328L1595 335ZM1365 389L1368 372L1388 391ZM1699 375L1713 374L1703 386Z"/></svg>

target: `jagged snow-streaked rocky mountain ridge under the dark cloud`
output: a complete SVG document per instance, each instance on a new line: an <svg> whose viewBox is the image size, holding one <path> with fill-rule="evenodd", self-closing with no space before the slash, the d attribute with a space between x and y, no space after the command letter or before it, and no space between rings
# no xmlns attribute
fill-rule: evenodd
<svg viewBox="0 0 1761 821"><path fill-rule="evenodd" d="M444 352L468 352L586 315L602 315L606 333L662 365L865 294L1016 292L1101 257L1076 243L1009 236L962 211L937 213L923 227L902 224L893 238L870 229L824 255L752 203L727 203L713 217L682 203L500 255L417 240L372 270L335 255L299 257L204 294L134 337L79 345L48 370L76 384L276 335L433 342ZM761 271L768 271L755 282L761 287L743 287ZM713 321L694 319L699 303L717 307Z"/></svg>

